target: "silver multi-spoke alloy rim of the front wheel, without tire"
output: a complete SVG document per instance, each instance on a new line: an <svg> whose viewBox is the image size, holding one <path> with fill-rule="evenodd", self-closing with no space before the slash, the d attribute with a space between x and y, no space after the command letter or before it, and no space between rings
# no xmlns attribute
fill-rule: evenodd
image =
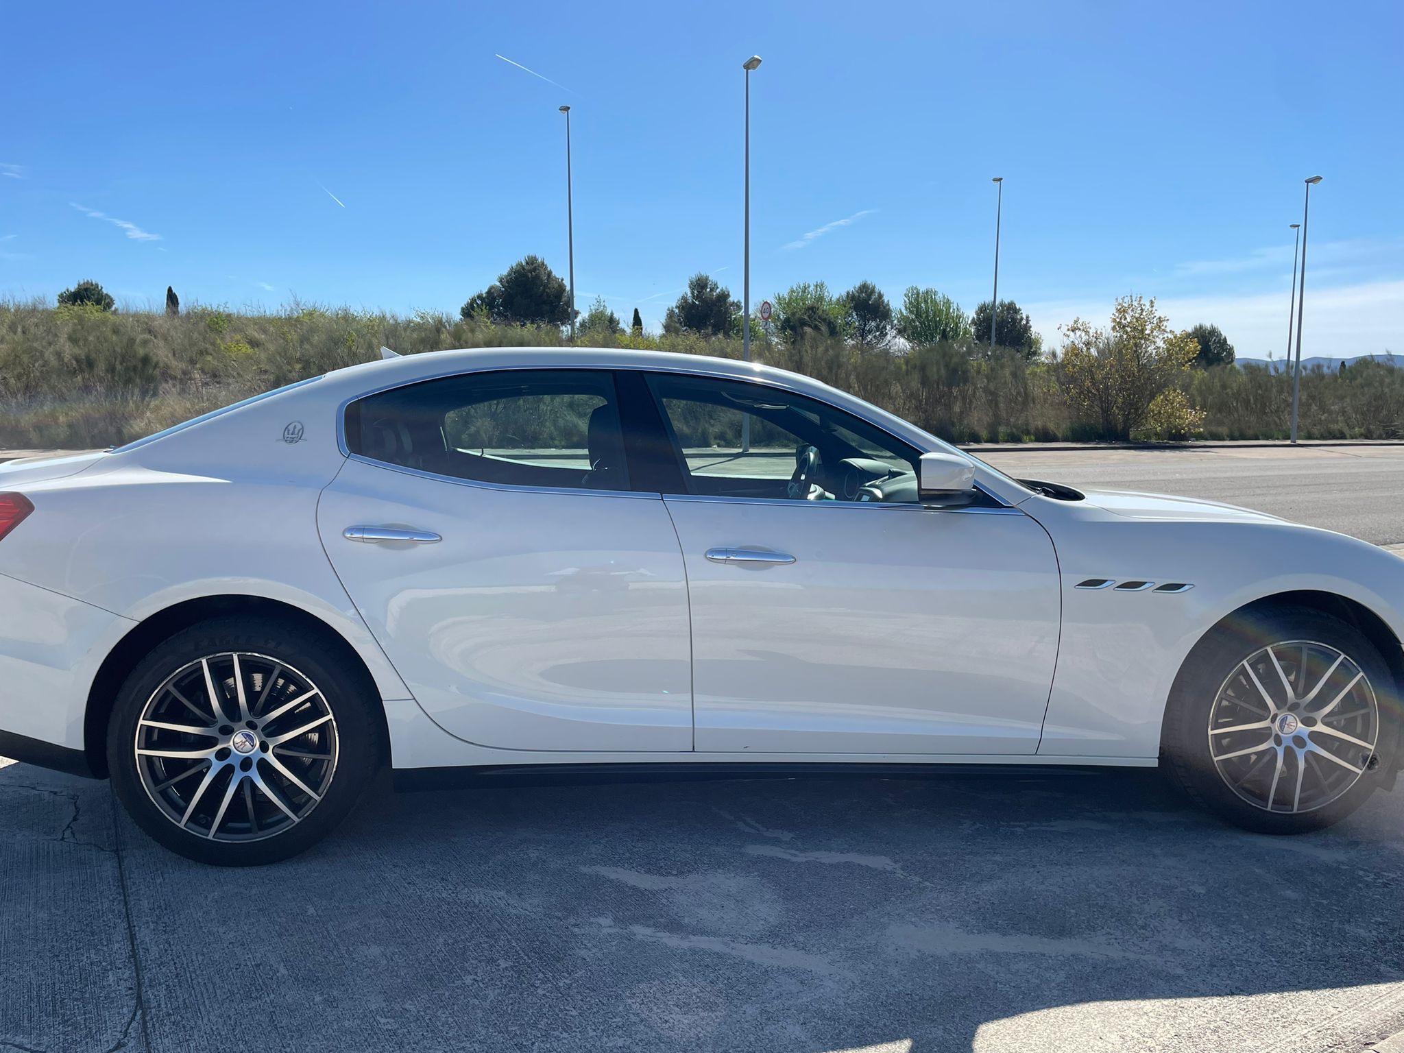
<svg viewBox="0 0 1404 1053"><path fill-rule="evenodd" d="M1344 651L1285 640L1234 667L1207 731L1214 768L1234 793L1265 812L1314 812L1375 764L1379 702Z"/></svg>

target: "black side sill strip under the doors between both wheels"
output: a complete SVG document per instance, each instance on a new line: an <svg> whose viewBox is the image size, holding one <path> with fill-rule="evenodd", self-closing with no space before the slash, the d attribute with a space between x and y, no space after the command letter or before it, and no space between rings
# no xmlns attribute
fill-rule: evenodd
<svg viewBox="0 0 1404 1053"><path fill-rule="evenodd" d="M493 786L581 786L637 782L712 782L720 779L963 779L1031 778L1053 774L1094 775L1144 771L1106 764L882 764L696 761L664 764L486 764L461 768L396 768L397 792Z"/></svg>

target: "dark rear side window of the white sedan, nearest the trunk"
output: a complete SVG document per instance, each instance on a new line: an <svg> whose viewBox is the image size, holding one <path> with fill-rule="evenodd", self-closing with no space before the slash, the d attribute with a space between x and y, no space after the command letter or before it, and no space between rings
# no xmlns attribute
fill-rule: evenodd
<svg viewBox="0 0 1404 1053"><path fill-rule="evenodd" d="M504 486L628 490L614 376L591 369L465 373L347 407L352 453Z"/></svg>

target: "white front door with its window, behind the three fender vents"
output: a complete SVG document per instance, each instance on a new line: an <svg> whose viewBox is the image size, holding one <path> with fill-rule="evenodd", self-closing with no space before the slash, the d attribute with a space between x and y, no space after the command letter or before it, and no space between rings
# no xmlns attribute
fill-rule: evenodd
<svg viewBox="0 0 1404 1053"><path fill-rule="evenodd" d="M827 403L649 385L684 480L699 753L1035 753L1060 616L1038 522L922 507L918 451Z"/></svg>

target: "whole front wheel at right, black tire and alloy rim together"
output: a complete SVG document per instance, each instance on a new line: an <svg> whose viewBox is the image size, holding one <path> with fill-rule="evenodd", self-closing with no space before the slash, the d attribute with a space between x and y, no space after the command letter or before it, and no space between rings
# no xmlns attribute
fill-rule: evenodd
<svg viewBox="0 0 1404 1053"><path fill-rule="evenodd" d="M1352 625L1310 608L1243 612L1191 653L1163 761L1189 796L1264 834L1349 816L1397 764L1397 685Z"/></svg>

